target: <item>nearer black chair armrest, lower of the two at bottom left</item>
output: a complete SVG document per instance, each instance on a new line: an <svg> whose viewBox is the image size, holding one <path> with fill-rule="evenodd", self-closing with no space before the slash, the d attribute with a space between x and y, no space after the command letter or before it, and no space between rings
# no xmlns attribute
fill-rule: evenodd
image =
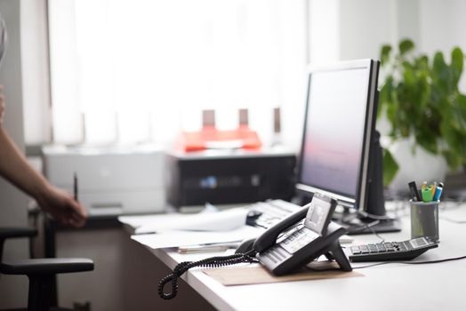
<svg viewBox="0 0 466 311"><path fill-rule="evenodd" d="M92 271L94 263L91 259L21 259L0 264L0 273L4 275L55 275Z"/></svg>

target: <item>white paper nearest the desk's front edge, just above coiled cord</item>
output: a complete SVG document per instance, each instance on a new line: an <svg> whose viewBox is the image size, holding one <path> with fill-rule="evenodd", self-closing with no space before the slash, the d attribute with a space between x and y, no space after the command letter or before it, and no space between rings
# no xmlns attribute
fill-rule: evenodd
<svg viewBox="0 0 466 311"><path fill-rule="evenodd" d="M165 231L150 235L132 235L131 238L151 249L196 245L205 243L240 242L261 235L263 229L243 226L221 232Z"/></svg>

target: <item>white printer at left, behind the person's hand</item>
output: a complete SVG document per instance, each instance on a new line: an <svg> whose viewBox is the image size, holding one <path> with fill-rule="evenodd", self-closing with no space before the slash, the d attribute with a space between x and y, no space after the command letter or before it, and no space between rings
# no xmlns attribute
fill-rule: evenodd
<svg viewBox="0 0 466 311"><path fill-rule="evenodd" d="M90 216L165 211L165 153L154 147L44 147L44 174Z"/></svg>

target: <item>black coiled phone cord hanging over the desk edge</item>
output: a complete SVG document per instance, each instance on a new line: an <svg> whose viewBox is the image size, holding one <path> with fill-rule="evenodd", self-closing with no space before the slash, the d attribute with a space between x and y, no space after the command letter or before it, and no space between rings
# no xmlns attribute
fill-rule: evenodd
<svg viewBox="0 0 466 311"><path fill-rule="evenodd" d="M158 283L158 295L162 299L173 299L176 297L178 292L178 278L188 271L191 267L222 267L229 265L236 265L242 262L253 263L255 261L255 251L247 251L245 254L238 253L230 256L217 256L198 261L183 261L174 267L173 272L170 275L166 275ZM164 292L166 283L172 283L172 291L169 293Z"/></svg>

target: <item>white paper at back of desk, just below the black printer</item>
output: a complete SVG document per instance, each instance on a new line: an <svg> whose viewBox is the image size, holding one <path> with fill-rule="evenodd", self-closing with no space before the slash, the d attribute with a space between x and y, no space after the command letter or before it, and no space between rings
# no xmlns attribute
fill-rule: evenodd
<svg viewBox="0 0 466 311"><path fill-rule="evenodd" d="M229 231L245 226L248 210L236 208L197 214L162 214L149 216L123 216L120 222L134 228L134 234L159 233L167 230Z"/></svg>

